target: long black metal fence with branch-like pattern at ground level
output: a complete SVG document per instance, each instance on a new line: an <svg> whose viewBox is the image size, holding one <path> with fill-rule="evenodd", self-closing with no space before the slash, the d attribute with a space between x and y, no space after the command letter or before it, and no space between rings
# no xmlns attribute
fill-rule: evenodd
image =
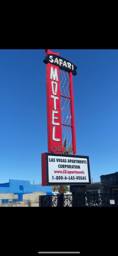
<svg viewBox="0 0 118 256"><path fill-rule="evenodd" d="M118 207L118 193L39 196L39 207Z"/></svg>

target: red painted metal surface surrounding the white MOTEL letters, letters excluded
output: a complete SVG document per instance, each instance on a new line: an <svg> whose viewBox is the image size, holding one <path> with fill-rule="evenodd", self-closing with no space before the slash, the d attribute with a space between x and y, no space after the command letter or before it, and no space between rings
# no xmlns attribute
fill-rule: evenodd
<svg viewBox="0 0 118 256"><path fill-rule="evenodd" d="M55 54L58 55L59 53L51 52L49 49L46 49L46 55L47 54ZM58 84L57 87L57 93L54 95L52 92L52 79L50 78L51 74L51 68L53 70L57 70L58 74L58 81L57 77L55 78L54 82ZM56 88L56 85L54 84L54 90ZM59 67L54 66L52 63L46 64L46 91L47 91L47 123L48 123L48 152L54 152L54 147L60 147L61 152L58 151L58 154L62 154L64 152L64 148L62 145L62 126L61 126L61 106L60 106L60 76L59 76ZM51 96L56 96L58 99L56 99L56 110L54 110L54 98L51 98ZM54 125L52 123L52 113L53 111L57 111L58 113L54 113L53 116L57 117L58 119L54 118L54 123L58 123L59 125ZM55 133L54 133L55 132ZM54 137L53 137L54 134ZM55 140L54 140L55 139ZM60 139L60 141L56 141L56 139Z"/></svg>

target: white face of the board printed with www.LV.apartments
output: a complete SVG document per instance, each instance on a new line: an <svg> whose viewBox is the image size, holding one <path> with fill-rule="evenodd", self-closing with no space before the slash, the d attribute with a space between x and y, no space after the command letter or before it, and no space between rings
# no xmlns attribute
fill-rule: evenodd
<svg viewBox="0 0 118 256"><path fill-rule="evenodd" d="M48 155L48 182L51 184L89 183L88 158Z"/></svg>

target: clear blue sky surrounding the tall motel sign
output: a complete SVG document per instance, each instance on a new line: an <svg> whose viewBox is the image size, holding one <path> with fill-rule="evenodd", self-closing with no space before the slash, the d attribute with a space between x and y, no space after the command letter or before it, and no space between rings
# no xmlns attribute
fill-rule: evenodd
<svg viewBox="0 0 118 256"><path fill-rule="evenodd" d="M93 182L118 172L118 50L60 50L73 76L77 154ZM0 182L41 182L47 152L46 72L40 50L0 50Z"/></svg>

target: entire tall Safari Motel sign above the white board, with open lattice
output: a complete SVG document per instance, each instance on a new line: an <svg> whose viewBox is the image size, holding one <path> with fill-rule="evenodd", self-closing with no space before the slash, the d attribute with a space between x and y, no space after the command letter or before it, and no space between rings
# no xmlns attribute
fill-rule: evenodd
<svg viewBox="0 0 118 256"><path fill-rule="evenodd" d="M48 152L76 154L72 75L77 67L59 53L45 51Z"/></svg>

